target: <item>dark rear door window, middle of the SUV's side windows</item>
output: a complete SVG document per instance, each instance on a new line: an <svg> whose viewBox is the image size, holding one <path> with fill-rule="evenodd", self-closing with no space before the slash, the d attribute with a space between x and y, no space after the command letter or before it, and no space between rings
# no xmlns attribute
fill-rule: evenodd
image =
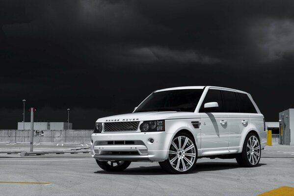
<svg viewBox="0 0 294 196"><path fill-rule="evenodd" d="M224 112L239 112L237 98L234 92L222 91Z"/></svg>

